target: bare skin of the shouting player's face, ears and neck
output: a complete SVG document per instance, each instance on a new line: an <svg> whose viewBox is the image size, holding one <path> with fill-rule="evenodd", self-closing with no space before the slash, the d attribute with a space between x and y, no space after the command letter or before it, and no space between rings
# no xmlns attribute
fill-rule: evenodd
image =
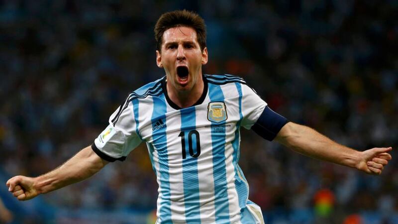
<svg viewBox="0 0 398 224"><path fill-rule="evenodd" d="M207 64L207 60L207 48L200 49L193 28L179 26L163 33L161 52L156 51L156 63L165 70L169 98L180 108L191 107L202 95L202 65ZM188 80L178 77L179 66L188 68Z"/></svg>

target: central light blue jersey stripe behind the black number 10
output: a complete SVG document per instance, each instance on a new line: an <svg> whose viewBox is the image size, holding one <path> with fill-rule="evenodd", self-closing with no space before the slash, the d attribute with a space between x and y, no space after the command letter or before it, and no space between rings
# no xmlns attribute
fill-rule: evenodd
<svg viewBox="0 0 398 224"><path fill-rule="evenodd" d="M198 158L192 157L189 152L189 133L196 129L195 107L185 108L180 110L180 112L181 131L184 131L186 155L186 158L183 159L185 217L187 223L200 224ZM191 135L194 154L198 152L197 137L199 138L196 134Z"/></svg>

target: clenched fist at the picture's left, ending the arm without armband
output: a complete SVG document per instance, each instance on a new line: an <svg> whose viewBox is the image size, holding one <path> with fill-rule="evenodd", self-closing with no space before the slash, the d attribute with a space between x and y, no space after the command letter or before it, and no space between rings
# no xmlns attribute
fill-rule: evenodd
<svg viewBox="0 0 398 224"><path fill-rule="evenodd" d="M15 176L6 183L8 191L19 201L26 201L36 197L39 192L34 186L34 178Z"/></svg>

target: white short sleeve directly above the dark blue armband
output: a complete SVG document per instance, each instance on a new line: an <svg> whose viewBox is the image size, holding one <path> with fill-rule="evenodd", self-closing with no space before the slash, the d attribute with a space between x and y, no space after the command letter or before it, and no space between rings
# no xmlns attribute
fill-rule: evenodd
<svg viewBox="0 0 398 224"><path fill-rule="evenodd" d="M250 129L260 117L267 103L263 101L257 93L247 85L242 86L242 123L241 125Z"/></svg>

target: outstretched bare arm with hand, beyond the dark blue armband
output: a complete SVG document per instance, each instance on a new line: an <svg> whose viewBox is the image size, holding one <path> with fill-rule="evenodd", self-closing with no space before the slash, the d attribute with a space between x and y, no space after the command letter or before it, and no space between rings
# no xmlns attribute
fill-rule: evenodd
<svg viewBox="0 0 398 224"><path fill-rule="evenodd" d="M354 167L368 174L381 174L392 147L357 151L338 144L312 128L288 122L275 138L294 151L332 163Z"/></svg>

